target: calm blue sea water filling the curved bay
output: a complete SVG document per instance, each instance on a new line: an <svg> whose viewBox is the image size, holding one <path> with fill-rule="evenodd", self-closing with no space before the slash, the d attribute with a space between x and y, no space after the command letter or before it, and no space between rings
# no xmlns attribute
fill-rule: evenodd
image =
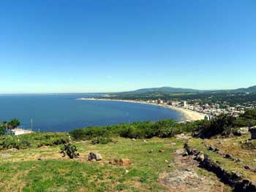
<svg viewBox="0 0 256 192"><path fill-rule="evenodd" d="M162 119L184 120L181 113L150 104L77 100L86 94L0 95L0 122L18 118L33 131L71 131L87 126ZM94 95L96 96L96 95Z"/></svg>

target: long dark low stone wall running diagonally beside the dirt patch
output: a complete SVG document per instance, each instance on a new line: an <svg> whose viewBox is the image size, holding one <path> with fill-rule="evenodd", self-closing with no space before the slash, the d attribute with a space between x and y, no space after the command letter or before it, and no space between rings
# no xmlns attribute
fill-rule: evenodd
<svg viewBox="0 0 256 192"><path fill-rule="evenodd" d="M214 172L223 182L233 186L235 188L234 191L256 191L256 183L243 178L240 173L228 172L219 166L216 161L209 158L208 155L190 148L187 144L184 148L189 155L195 155L195 159L199 162L200 166L203 166L208 171Z"/></svg>

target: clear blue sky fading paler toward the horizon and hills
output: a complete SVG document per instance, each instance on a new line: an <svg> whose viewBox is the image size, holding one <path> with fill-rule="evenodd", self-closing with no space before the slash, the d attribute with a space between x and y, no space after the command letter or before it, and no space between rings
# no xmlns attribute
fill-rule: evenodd
<svg viewBox="0 0 256 192"><path fill-rule="evenodd" d="M256 84L255 0L5 0L0 93Z"/></svg>

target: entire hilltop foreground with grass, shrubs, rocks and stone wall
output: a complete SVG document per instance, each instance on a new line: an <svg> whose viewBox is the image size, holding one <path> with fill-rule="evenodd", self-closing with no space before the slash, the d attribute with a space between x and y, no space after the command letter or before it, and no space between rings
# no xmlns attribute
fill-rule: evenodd
<svg viewBox="0 0 256 192"><path fill-rule="evenodd" d="M256 191L255 125L248 110L2 135L0 191Z"/></svg>

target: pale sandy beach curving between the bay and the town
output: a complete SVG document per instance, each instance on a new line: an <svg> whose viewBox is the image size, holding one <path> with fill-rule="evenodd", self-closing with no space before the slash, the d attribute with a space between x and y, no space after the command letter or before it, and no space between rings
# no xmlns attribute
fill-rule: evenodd
<svg viewBox="0 0 256 192"><path fill-rule="evenodd" d="M138 104L151 104L154 106L165 107L170 110L175 110L176 112L180 112L183 116L183 121L194 121L194 120L203 120L205 118L205 114L200 112L195 112L192 110L187 110L181 107L175 107L167 104L154 104L148 103L146 101L134 101L134 100L121 100L121 99L95 99L95 98L80 98L76 100L91 100L91 101L122 101L122 102L129 102L129 103L138 103Z"/></svg>

